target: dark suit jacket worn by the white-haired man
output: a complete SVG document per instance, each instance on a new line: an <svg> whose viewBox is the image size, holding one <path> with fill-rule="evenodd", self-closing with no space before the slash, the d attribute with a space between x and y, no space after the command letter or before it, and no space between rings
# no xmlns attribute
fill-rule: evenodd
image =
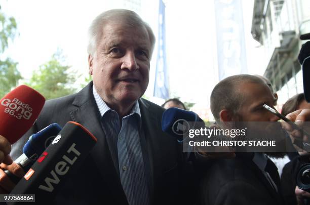
<svg viewBox="0 0 310 205"><path fill-rule="evenodd" d="M98 140L83 166L75 170L57 194L55 204L127 204L117 169L112 162L106 137L101 127L100 114L92 94L92 82L77 94L49 100L30 131L12 147L11 155L17 158L32 133L57 122L64 126L76 121L86 127ZM140 99L142 128L149 164L148 183L152 204L175 204L178 199L179 166L181 152L173 137L161 129L164 109Z"/></svg>

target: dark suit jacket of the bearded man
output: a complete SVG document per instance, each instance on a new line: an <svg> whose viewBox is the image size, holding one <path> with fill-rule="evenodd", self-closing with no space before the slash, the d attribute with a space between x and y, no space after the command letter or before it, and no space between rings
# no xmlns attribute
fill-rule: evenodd
<svg viewBox="0 0 310 205"><path fill-rule="evenodd" d="M218 159L201 181L201 204L282 204L252 159Z"/></svg>

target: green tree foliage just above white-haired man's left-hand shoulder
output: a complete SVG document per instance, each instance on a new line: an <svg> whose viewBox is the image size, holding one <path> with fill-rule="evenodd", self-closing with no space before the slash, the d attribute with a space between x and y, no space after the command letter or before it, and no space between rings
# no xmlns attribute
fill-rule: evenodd
<svg viewBox="0 0 310 205"><path fill-rule="evenodd" d="M63 61L61 51L57 51L51 60L33 71L28 85L47 100L74 93L76 89L72 86L76 76L68 71L70 66L63 65Z"/></svg>

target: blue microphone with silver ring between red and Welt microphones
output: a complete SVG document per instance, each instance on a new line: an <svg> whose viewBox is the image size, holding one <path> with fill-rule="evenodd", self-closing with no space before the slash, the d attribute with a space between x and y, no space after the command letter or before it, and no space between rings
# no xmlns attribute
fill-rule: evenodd
<svg viewBox="0 0 310 205"><path fill-rule="evenodd" d="M53 123L43 130L31 135L23 147L23 154L15 160L15 163L27 172L35 160L41 156L43 151L58 135L60 130L61 127L57 123ZM13 175L10 171L6 170L5 173L14 183L19 182L20 178Z"/></svg>

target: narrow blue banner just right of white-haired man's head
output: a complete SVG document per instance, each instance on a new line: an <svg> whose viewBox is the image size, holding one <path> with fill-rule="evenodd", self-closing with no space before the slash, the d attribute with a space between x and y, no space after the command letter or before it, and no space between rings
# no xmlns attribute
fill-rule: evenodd
<svg viewBox="0 0 310 205"><path fill-rule="evenodd" d="M165 4L160 0L159 7L159 29L158 29L158 54L156 62L156 75L154 85L154 96L168 99L169 85L166 62L166 30L165 30Z"/></svg>

